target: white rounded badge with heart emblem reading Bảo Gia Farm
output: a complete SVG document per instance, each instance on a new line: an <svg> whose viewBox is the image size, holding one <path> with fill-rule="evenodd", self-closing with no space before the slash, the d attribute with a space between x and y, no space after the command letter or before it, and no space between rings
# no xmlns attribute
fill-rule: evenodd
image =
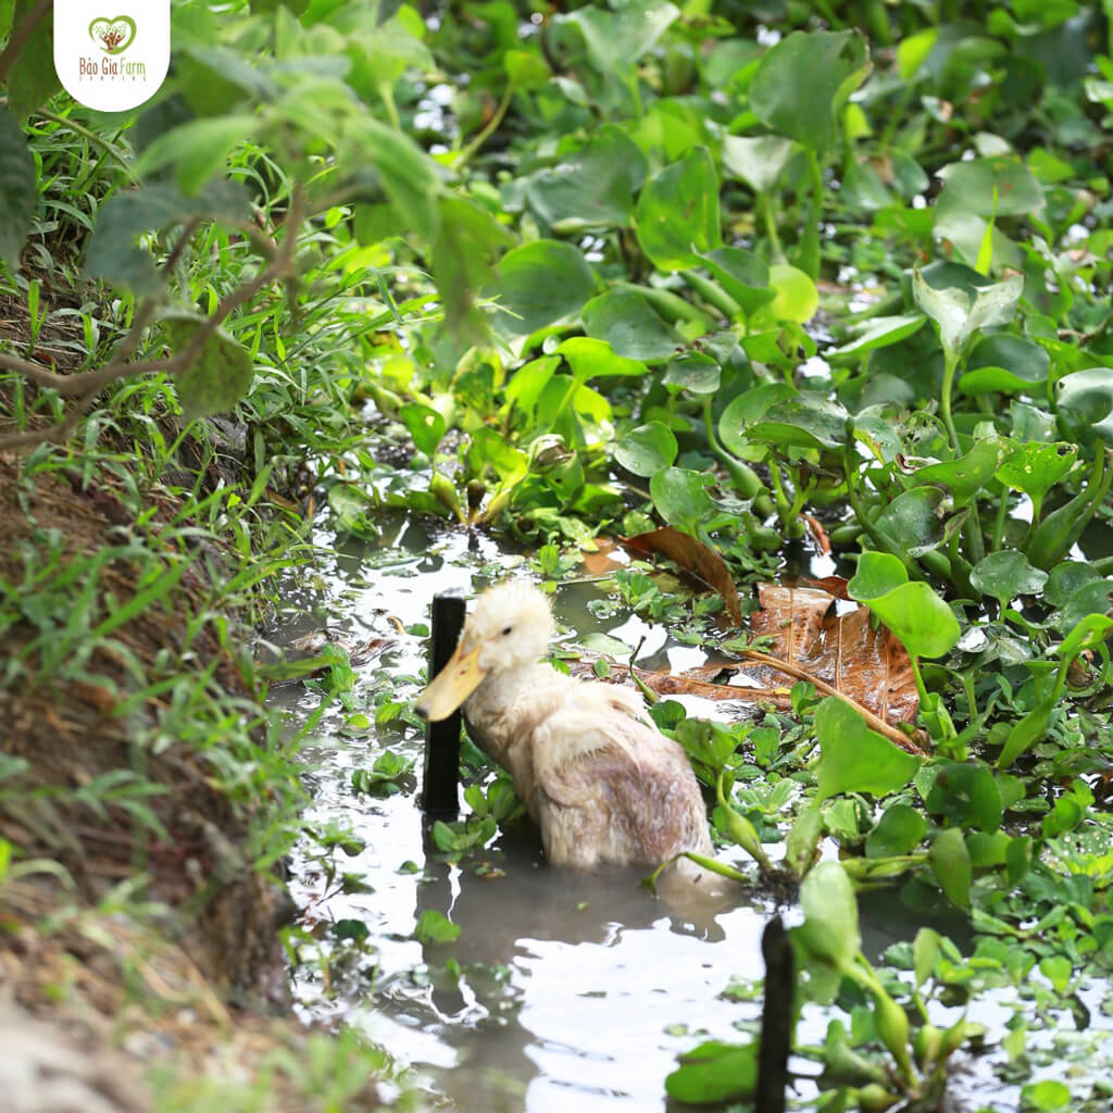
<svg viewBox="0 0 1113 1113"><path fill-rule="evenodd" d="M93 8L89 0L53 0L55 69L75 100L100 111L119 112L150 99L166 78L170 67L170 0L108 3L119 14L90 20L89 9L96 11L99 3Z"/></svg>

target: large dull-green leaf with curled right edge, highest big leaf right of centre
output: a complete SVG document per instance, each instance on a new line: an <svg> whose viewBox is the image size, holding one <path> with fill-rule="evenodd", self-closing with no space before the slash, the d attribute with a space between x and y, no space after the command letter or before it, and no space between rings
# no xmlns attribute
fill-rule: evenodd
<svg viewBox="0 0 1113 1113"><path fill-rule="evenodd" d="M761 59L750 108L770 130L823 152L838 142L843 109L869 69L859 32L794 31Z"/></svg>

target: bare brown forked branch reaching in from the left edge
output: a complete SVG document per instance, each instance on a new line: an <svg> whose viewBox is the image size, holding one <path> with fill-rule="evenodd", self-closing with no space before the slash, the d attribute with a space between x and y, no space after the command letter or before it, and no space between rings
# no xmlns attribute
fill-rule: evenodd
<svg viewBox="0 0 1113 1113"><path fill-rule="evenodd" d="M200 355L201 349L209 342L213 334L236 309L255 297L259 290L293 272L294 248L297 245L297 232L301 227L304 213L305 195L301 187L296 187L290 198L289 213L286 219L286 236L269 265L260 270L250 282L244 283L243 286L228 294L216 307L211 316L207 317L205 323L194 333L193 338L181 352L169 359L156 359L148 363L134 364L127 362L139 346L142 334L150 324L150 318L154 316L158 305L155 298L148 298L142 303L135 315L127 335L125 335L112 353L111 359L98 371L90 371L80 375L59 375L28 359L20 359L17 356L0 353L0 367L19 372L39 386L52 387L67 396L80 395L77 404L57 425L48 430L28 430L23 433L0 436L0 449L14 449L24 444L60 444L77 427L78 422L88 412L97 394L110 383L119 378L126 378L129 375L148 375L156 372L176 375L191 367L194 361ZM193 232L196 230L196 225L197 221L195 220L186 225L181 237L166 260L164 273L171 269L177 263L186 242L193 235Z"/></svg>

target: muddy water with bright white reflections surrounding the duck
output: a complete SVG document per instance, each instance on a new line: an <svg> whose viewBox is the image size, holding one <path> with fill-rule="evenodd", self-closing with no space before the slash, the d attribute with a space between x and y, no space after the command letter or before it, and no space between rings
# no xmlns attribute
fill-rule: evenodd
<svg viewBox="0 0 1113 1113"><path fill-rule="evenodd" d="M396 639L357 669L356 710L373 716L376 693L412 698L424 666L424 639L398 636L392 620L425 623L435 592L470 595L504 574L531 575L486 539L469 550L460 534L431 536L400 519L374 550L352 550L299 578L292 610L316 618L290 622L283 634L295 637L331 613L333 631ZM562 628L575 631L570 637L599 631L631 648L642 642L646 667L700 661L666 630L617 611L598 584L562 588L554 609ZM321 697L293 689L285 699L297 719ZM721 713L721 705L691 710ZM680 1053L755 1030L752 984L762 975L760 935L771 905L739 894L719 910L674 907L639 885L640 870L552 869L525 820L493 848L449 865L417 807L418 731L395 719L353 732L349 715L334 706L314 732L321 745L306 818L318 831L351 829L363 847L324 851L306 839L294 860L292 888L307 934L293 984L306 1018L352 1024L407 1064L434 1101L474 1113L663 1110L664 1076ZM355 794L352 772L387 747L416 759L416 777L385 799ZM720 857L745 868L737 848ZM414 939L425 909L457 924L459 939ZM913 934L907 925L881 926L892 924L890 907L877 917L863 913L867 954L896 933ZM784 914L788 923L797 918L791 908ZM365 937L352 938L363 935L361 925ZM806 1015L798 1034L819 1042L825 1024ZM815 1073L802 1061L794 1066Z"/></svg>

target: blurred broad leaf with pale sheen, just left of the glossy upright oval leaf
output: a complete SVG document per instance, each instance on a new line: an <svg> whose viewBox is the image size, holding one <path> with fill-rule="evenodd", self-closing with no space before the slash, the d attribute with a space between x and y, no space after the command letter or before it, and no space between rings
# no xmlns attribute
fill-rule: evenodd
<svg viewBox="0 0 1113 1113"><path fill-rule="evenodd" d="M628 225L646 168L638 146L608 124L587 146L532 175L525 197L542 220L562 233Z"/></svg>

